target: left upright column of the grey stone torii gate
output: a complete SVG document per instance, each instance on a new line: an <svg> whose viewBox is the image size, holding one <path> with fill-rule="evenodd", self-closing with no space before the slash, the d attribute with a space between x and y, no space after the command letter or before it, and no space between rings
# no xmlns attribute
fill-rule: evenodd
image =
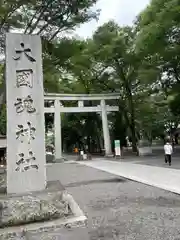
<svg viewBox="0 0 180 240"><path fill-rule="evenodd" d="M61 113L60 113L60 101L54 102L54 137L55 137L55 160L62 158L62 137L61 137Z"/></svg>

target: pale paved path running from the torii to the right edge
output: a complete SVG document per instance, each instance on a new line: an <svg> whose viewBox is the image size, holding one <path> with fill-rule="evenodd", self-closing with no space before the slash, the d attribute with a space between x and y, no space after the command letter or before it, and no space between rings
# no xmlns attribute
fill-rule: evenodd
<svg viewBox="0 0 180 240"><path fill-rule="evenodd" d="M78 163L180 194L180 170L177 169L127 163L121 160L94 160Z"/></svg>

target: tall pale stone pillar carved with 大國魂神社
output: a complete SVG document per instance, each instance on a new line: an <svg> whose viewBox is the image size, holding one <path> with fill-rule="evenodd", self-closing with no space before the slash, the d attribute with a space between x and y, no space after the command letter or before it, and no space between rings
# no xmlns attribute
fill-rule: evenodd
<svg viewBox="0 0 180 240"><path fill-rule="evenodd" d="M8 193L46 188L41 54L39 36L6 35Z"/></svg>

